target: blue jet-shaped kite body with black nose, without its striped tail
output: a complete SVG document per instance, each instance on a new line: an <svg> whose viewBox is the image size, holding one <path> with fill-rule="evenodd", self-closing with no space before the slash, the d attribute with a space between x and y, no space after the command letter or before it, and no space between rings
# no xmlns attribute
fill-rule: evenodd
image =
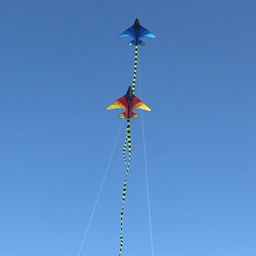
<svg viewBox="0 0 256 256"><path fill-rule="evenodd" d="M135 44L135 46L144 45L145 43L140 40L140 38L147 36L151 38L156 38L155 35L153 35L148 29L142 27L140 25L140 22L138 19L135 20L132 27L126 29L120 36L118 36L116 39L124 38L124 37L132 37L134 40L132 40L129 45L132 46Z"/></svg>

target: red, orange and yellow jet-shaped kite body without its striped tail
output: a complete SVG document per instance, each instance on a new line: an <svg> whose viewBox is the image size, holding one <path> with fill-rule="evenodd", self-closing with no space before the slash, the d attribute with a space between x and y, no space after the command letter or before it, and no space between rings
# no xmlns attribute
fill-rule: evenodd
<svg viewBox="0 0 256 256"><path fill-rule="evenodd" d="M106 108L106 110L113 110L113 109L124 109L125 112L120 114L119 117L126 118L126 119L138 118L138 115L133 113L132 110L143 109L147 111L152 111L150 108L148 108L148 106L145 103L143 103L141 100L139 100L137 97L134 96L134 94L132 93L131 86L129 86L128 91L122 98L116 100L110 106L108 106L108 108Z"/></svg>

